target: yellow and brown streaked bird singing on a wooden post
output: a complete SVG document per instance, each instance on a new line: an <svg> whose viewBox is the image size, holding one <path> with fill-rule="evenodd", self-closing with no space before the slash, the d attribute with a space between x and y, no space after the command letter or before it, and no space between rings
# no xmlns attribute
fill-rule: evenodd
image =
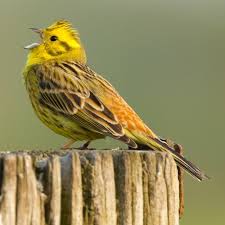
<svg viewBox="0 0 225 225"><path fill-rule="evenodd" d="M208 176L169 146L103 76L87 65L78 31L67 20L31 28L40 41L27 45L23 70L26 90L37 117L55 133L76 141L111 137L131 149L140 146L171 154L177 165L199 181Z"/></svg>

